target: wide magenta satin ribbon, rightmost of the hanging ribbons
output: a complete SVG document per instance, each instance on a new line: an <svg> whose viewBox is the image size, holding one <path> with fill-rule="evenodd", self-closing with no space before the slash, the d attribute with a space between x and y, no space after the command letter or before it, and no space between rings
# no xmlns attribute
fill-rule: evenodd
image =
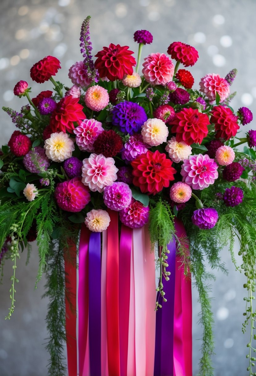
<svg viewBox="0 0 256 376"><path fill-rule="evenodd" d="M176 235L185 237L185 228L175 218ZM189 247L185 244L187 252ZM190 273L184 275L184 265L176 257L174 309L174 376L192 376L192 294Z"/></svg>

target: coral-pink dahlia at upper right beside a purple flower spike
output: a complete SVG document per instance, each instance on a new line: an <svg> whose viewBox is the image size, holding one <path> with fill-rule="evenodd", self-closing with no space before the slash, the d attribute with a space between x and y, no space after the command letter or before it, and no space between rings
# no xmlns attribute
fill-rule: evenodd
<svg viewBox="0 0 256 376"><path fill-rule="evenodd" d="M220 96L220 102L223 102L229 96L229 84L218 74L206 74L199 82L200 91L203 92L211 102L216 99L216 92Z"/></svg>

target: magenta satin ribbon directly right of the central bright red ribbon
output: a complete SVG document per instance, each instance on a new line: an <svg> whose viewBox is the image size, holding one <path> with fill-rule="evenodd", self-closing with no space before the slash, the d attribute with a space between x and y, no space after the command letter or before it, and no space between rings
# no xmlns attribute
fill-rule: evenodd
<svg viewBox="0 0 256 376"><path fill-rule="evenodd" d="M127 376L132 235L133 230L122 224L119 245L120 376Z"/></svg>

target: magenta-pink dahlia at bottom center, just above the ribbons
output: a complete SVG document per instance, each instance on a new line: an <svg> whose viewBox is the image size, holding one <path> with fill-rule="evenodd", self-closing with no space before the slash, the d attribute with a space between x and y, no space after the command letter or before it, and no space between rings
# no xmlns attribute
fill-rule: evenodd
<svg viewBox="0 0 256 376"><path fill-rule="evenodd" d="M130 205L119 212L120 221L132 229L141 228L149 220L149 207L131 199Z"/></svg>

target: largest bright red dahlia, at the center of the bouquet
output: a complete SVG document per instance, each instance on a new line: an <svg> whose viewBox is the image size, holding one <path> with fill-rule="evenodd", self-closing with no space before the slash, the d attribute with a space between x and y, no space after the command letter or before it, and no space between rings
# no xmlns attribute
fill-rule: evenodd
<svg viewBox="0 0 256 376"><path fill-rule="evenodd" d="M172 161L166 155L156 150L148 150L131 162L133 167L133 184L140 188L142 193L157 194L164 187L167 188L170 180L174 180L176 173Z"/></svg>

